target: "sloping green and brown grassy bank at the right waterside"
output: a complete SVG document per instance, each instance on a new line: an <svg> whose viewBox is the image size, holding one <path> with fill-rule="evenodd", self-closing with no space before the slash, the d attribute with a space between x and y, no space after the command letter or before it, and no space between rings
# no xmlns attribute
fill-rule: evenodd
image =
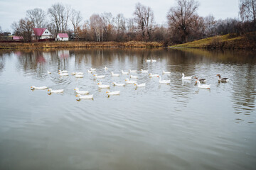
<svg viewBox="0 0 256 170"><path fill-rule="evenodd" d="M183 48L214 48L214 49L256 49L256 33L247 33L246 35L221 35L211 38L187 42L181 45L171 47Z"/></svg>

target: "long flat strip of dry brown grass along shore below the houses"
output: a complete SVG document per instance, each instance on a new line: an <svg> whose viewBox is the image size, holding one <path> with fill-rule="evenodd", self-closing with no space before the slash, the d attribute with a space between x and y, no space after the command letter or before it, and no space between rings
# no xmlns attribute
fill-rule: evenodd
<svg viewBox="0 0 256 170"><path fill-rule="evenodd" d="M0 49L42 49L42 48L73 48L73 47L162 47L159 42L0 42Z"/></svg>

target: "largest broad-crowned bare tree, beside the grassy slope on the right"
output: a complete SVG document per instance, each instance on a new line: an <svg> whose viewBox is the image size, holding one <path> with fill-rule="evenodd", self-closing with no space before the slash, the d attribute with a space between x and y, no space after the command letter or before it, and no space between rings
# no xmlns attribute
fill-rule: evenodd
<svg viewBox="0 0 256 170"><path fill-rule="evenodd" d="M177 6L171 7L167 14L169 28L181 34L182 42L187 42L188 40L198 6L198 1L177 0Z"/></svg>

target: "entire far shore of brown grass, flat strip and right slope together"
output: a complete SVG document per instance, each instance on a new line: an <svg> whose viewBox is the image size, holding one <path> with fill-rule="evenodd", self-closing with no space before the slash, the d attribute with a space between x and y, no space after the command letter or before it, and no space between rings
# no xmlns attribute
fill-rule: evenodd
<svg viewBox="0 0 256 170"><path fill-rule="evenodd" d="M34 50L34 49L59 49L59 48L164 48L164 42L90 42L90 41L46 41L46 42L0 42L0 50ZM256 32L245 35L220 35L211 38L204 38L179 45L172 45L169 48L198 48L198 49L230 49L230 50L256 50Z"/></svg>

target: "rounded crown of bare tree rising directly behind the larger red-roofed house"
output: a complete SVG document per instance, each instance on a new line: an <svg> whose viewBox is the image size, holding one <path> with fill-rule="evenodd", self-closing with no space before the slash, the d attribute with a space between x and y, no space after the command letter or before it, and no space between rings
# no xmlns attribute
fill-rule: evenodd
<svg viewBox="0 0 256 170"><path fill-rule="evenodd" d="M33 22L36 28L43 28L46 26L46 12L41 8L34 8L26 11L27 18Z"/></svg>

